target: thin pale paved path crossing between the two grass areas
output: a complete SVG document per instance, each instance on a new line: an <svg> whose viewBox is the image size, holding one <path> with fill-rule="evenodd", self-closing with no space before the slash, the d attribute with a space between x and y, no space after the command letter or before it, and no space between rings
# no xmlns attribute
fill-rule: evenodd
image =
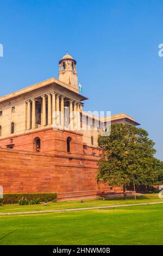
<svg viewBox="0 0 163 256"><path fill-rule="evenodd" d="M139 205L152 205L152 204L163 204L163 202L152 202L152 203L141 203L141 204L121 204L121 205L105 205L105 206L94 206L85 208L73 208L73 209L60 209L60 210L44 210L44 211L20 211L20 212L2 212L2 215L22 215L22 214L45 214L48 212L61 212L61 211L83 211L83 210L93 210L93 209L104 209L104 208L117 208L126 206L139 206Z"/></svg>

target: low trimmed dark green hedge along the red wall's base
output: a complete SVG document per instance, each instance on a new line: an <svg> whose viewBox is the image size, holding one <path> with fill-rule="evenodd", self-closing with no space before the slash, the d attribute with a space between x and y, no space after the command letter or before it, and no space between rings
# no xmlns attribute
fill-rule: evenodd
<svg viewBox="0 0 163 256"><path fill-rule="evenodd" d="M56 193L27 193L27 194L3 194L3 204L18 204L18 200L22 197L27 198L31 201L33 199L40 199L40 202L52 202L54 199L57 199Z"/></svg>

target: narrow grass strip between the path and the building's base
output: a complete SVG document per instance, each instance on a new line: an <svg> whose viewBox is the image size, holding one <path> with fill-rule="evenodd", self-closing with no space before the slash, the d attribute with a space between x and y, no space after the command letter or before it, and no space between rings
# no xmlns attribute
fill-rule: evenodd
<svg viewBox="0 0 163 256"><path fill-rule="evenodd" d="M148 203L148 202L163 202L163 199L159 199L158 194L144 194L143 196L137 197L137 200L134 200L134 197L128 197L127 200L122 198L112 198L108 200L99 200L91 199L84 200L83 203L80 201L68 201L68 202L57 202L57 203L48 203L45 206L43 203L39 205L4 205L0 206L1 212L23 212L23 211L41 211L41 210L58 210L58 209L72 209L72 208L85 208L93 206L104 206L104 205L122 205L122 204L137 204L137 203Z"/></svg>

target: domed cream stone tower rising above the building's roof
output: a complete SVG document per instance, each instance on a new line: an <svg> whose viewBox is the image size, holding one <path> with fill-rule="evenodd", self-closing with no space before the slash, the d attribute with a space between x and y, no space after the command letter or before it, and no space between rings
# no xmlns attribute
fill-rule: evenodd
<svg viewBox="0 0 163 256"><path fill-rule="evenodd" d="M59 62L59 80L78 90L76 60L68 53Z"/></svg>

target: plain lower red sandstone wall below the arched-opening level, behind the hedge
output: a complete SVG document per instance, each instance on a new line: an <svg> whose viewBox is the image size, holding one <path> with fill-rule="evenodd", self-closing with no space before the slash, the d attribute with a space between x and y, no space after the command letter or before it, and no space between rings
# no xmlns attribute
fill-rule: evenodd
<svg viewBox="0 0 163 256"><path fill-rule="evenodd" d="M67 199L93 197L98 193L97 160L91 159L0 149L0 185L4 193L56 192Z"/></svg>

